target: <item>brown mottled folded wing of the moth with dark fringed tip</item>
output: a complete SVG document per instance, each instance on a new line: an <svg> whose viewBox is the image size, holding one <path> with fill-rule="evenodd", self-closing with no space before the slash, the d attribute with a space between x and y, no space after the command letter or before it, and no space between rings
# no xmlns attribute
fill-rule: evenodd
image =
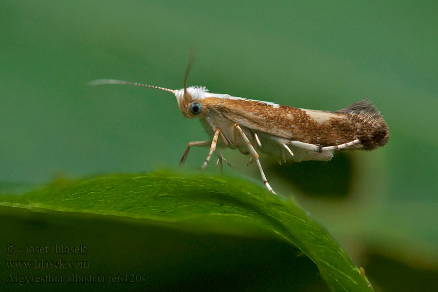
<svg viewBox="0 0 438 292"><path fill-rule="evenodd" d="M338 111L273 106L248 99L206 97L203 102L243 127L314 145L334 146L359 139L363 149L372 150L389 139L383 117L367 99Z"/></svg>

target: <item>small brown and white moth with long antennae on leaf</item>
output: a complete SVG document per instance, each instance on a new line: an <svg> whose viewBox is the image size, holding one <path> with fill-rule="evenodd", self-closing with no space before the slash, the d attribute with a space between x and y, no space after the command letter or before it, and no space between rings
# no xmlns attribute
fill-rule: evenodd
<svg viewBox="0 0 438 292"><path fill-rule="evenodd" d="M207 166L215 150L218 150L216 166L219 163L222 166L222 161L229 163L222 156L221 150L238 149L245 155L251 155L248 164L256 162L263 183L274 194L260 164L260 152L276 157L279 164L286 160L328 161L333 157L334 151L369 151L388 142L388 126L368 99L336 111L293 108L228 94L210 93L205 87L187 87L190 68L191 64L185 74L184 88L180 90L114 79L98 79L90 84L133 85L173 93L183 116L198 118L212 137L208 141L190 142L180 164L184 164L190 147L193 146L210 146L207 158L201 165L202 169Z"/></svg>

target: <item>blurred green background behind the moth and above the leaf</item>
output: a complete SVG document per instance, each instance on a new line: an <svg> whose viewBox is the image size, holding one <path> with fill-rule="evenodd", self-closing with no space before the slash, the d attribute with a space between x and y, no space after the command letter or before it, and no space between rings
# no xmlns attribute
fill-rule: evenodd
<svg viewBox="0 0 438 292"><path fill-rule="evenodd" d="M387 146L262 165L378 291L438 289L436 2L0 0L0 13L4 188L177 167L187 143L207 135L173 95L86 82L179 89L196 46L188 83L215 93L317 110L373 101ZM223 154L235 167L226 174L261 184L248 157ZM185 167L205 155L193 149Z"/></svg>

